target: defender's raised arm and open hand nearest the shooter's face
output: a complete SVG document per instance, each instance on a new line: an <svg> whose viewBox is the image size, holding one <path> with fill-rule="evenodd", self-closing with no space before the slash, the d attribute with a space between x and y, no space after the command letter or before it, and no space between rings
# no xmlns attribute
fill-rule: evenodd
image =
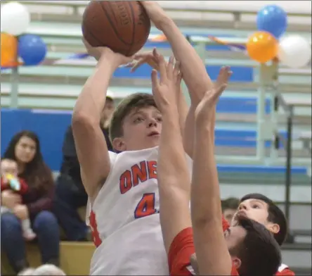
<svg viewBox="0 0 312 276"><path fill-rule="evenodd" d="M190 175L183 151L180 132L178 101L181 77L178 64L170 58L166 65L160 56L160 80L152 75L152 93L162 111L162 134L157 162L157 180L160 191L160 222L164 245L169 247L181 230L190 227Z"/></svg>

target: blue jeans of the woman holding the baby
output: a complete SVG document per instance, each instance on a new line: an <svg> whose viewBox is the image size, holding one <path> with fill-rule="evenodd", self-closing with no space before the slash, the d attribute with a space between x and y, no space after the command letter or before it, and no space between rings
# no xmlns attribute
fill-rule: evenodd
<svg viewBox="0 0 312 276"><path fill-rule="evenodd" d="M37 234L42 263L59 265L60 233L56 217L49 211L41 211L32 220L32 228ZM1 215L1 249L15 272L27 268L22 227L12 213Z"/></svg>

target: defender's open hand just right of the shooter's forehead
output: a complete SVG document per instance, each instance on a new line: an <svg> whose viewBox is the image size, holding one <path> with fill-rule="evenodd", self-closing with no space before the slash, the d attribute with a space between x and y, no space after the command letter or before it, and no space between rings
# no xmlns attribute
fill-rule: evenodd
<svg viewBox="0 0 312 276"><path fill-rule="evenodd" d="M157 107L164 113L167 108L177 106L178 89L181 84L181 73L179 71L179 63L174 65L174 58L169 59L169 63L164 61L164 57L157 56L157 66L160 71L160 79L157 77L157 70L152 70L152 94L154 96Z"/></svg>

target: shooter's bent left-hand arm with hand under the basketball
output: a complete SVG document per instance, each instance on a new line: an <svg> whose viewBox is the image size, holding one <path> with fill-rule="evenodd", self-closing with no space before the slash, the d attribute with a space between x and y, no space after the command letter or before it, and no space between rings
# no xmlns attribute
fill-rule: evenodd
<svg viewBox="0 0 312 276"><path fill-rule="evenodd" d="M100 130L100 114L105 105L110 77L116 68L128 60L104 47L86 49L98 60L96 69L84 84L72 114L72 131L77 156L81 165L82 181L93 199L110 172L110 157L105 137Z"/></svg>

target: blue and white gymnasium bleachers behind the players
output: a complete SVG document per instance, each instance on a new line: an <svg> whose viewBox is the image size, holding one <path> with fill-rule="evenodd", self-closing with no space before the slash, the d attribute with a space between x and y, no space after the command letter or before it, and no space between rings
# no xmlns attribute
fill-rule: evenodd
<svg viewBox="0 0 312 276"><path fill-rule="evenodd" d="M46 163L58 172L63 135L70 125L71 111L94 64L92 60L75 65L57 62L84 51L79 25L84 2L42 1L38 4L38 1L25 1L32 13L28 32L44 39L48 44L48 55L39 67L19 68L17 108L11 108L12 81L17 80L11 71L1 73L1 154L15 132L33 130L39 134ZM286 244L282 256L283 262L298 274L311 275L311 66L300 70L278 68L278 87L275 83L266 84L263 87L266 91L262 90L265 96L261 99L261 68L241 52L230 51L207 39L208 35L214 35L244 44L247 35L255 30L257 8L233 6L225 9L215 4L205 8L194 4L199 1L185 1L185 8L176 8L174 1L162 2L166 2L162 5L199 51L212 79L216 79L222 65L230 65L233 70L228 90L217 106L216 117L216 158L224 199L259 192L285 208L286 142L290 138L287 137L290 120L287 108L291 108L290 230L295 235L295 243ZM192 6L188 2L193 2ZM294 8L288 16L290 33L300 33L311 41L311 10L305 14ZM152 35L159 33L152 28ZM164 56L171 54L167 42L150 41L144 50L155 46ZM119 68L113 76L110 91L116 99L134 92L150 93L150 68L143 66L134 74ZM261 114L259 101L262 100L264 111ZM262 125L259 125L259 119ZM264 130L266 125L271 129ZM259 132L266 134L259 137ZM259 143L263 144L263 151ZM258 158L259 154L261 158ZM83 251L81 246L88 249ZM80 260L84 253L85 258L91 256L92 250L90 244L63 242L61 258L65 271L70 275L86 275L88 261L77 265L65 256L75 252ZM33 248L31 252L37 254ZM38 261L38 256L34 259Z"/></svg>

